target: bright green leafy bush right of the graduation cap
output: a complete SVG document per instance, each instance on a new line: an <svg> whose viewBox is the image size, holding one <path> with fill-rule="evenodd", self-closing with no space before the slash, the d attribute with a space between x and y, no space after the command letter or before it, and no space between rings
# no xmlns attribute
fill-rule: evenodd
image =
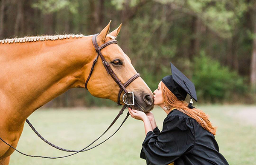
<svg viewBox="0 0 256 165"><path fill-rule="evenodd" d="M243 97L247 91L244 80L235 71L221 66L216 60L207 57L204 52L194 59L193 83L200 100L223 102L231 100L235 94Z"/></svg>

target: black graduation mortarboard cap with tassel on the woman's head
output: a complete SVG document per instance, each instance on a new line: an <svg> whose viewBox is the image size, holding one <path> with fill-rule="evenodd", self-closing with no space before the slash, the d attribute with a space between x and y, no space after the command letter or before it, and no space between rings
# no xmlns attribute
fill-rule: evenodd
<svg viewBox="0 0 256 165"><path fill-rule="evenodd" d="M190 103L188 105L189 108L194 108L192 106L192 98L197 102L195 85L181 72L179 71L172 63L172 75L163 77L162 82L166 85L166 87L172 91L172 93L179 100L185 100L187 94L191 96Z"/></svg>

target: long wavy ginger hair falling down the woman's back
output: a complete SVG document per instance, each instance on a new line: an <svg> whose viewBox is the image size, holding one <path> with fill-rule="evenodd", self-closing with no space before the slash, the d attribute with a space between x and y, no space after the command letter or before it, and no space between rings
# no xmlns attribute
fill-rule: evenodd
<svg viewBox="0 0 256 165"><path fill-rule="evenodd" d="M177 97L166 87L166 85L164 85L164 83L161 83L161 88L163 100L166 102L166 104L176 108L178 111L183 112L189 117L192 117L205 130L209 131L213 135L216 135L216 127L212 126L212 123L209 121L209 116L205 114L204 111L197 108L188 108L188 103L185 101L178 100Z"/></svg>

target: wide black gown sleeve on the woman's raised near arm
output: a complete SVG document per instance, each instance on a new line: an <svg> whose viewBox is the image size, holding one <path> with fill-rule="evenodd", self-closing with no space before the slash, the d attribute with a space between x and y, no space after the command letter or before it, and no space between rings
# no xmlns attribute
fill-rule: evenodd
<svg viewBox="0 0 256 165"><path fill-rule="evenodd" d="M141 157L147 165L168 165L194 146L192 119L169 116L163 122L163 130L157 135L149 131L142 144ZM144 154L144 155L142 155Z"/></svg>

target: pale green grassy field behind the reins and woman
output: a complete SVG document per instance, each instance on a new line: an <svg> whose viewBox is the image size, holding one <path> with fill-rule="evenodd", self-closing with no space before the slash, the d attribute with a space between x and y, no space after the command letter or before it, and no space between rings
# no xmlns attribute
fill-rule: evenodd
<svg viewBox="0 0 256 165"><path fill-rule="evenodd" d="M210 116L211 122L218 126L216 140L221 154L230 165L256 165L256 125L240 119L238 112L246 109L256 111L256 106L210 105L197 106ZM49 142L62 148L79 150L99 137L119 109L91 108L81 109L39 109L29 120ZM107 138L118 128L127 110L102 139ZM161 129L166 114L160 108L153 113ZM246 115L245 115L246 116ZM253 117L248 114L248 118ZM256 120L256 118L255 118ZM62 159L42 159L12 154L10 165L145 165L140 159L141 144L145 138L143 122L129 117L122 128L107 142L91 151L79 153ZM101 142L101 141L99 141ZM25 124L17 149L33 155L64 156L70 153L58 151L44 143Z"/></svg>

